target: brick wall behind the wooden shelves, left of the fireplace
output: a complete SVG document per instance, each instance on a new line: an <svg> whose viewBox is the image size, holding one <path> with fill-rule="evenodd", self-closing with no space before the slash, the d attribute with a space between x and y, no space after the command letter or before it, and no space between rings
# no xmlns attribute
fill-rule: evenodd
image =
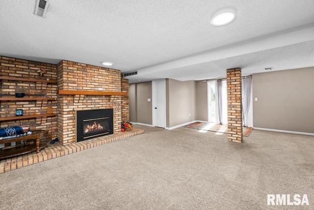
<svg viewBox="0 0 314 210"><path fill-rule="evenodd" d="M45 70L43 78L37 71ZM0 56L0 76L19 77L27 79L45 79L49 77L56 80L56 65ZM0 81L0 97L15 97L15 92L24 92L25 97L53 97L56 98L56 84L36 83L27 81ZM47 114L49 109L56 112L56 101L2 101L0 103L0 116L14 117L16 109L23 109L24 115ZM31 129L48 129L48 139L56 137L56 118L43 117L37 119L0 121L0 127L14 125L29 125ZM8 143L5 149L11 147Z"/></svg>

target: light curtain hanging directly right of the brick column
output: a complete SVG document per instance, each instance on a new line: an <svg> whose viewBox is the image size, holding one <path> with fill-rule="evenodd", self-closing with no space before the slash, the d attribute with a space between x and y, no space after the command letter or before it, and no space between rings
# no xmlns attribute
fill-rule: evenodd
<svg viewBox="0 0 314 210"><path fill-rule="evenodd" d="M242 78L242 125L247 127L252 91L252 77Z"/></svg>

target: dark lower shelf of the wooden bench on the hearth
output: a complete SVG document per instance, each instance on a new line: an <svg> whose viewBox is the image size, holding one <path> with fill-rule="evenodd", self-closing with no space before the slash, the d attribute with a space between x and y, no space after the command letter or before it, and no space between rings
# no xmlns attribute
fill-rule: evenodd
<svg viewBox="0 0 314 210"><path fill-rule="evenodd" d="M39 144L39 150L47 147L47 143L43 142ZM5 159L9 157L14 157L20 154L26 154L28 152L36 151L36 145L26 145L18 148L11 148L7 150L0 151L0 159Z"/></svg>

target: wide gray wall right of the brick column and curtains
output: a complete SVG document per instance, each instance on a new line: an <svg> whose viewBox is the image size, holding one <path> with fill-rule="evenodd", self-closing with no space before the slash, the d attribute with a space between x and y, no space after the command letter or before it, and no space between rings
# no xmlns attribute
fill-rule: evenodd
<svg viewBox="0 0 314 210"><path fill-rule="evenodd" d="M314 133L314 67L254 74L252 85L254 127Z"/></svg>

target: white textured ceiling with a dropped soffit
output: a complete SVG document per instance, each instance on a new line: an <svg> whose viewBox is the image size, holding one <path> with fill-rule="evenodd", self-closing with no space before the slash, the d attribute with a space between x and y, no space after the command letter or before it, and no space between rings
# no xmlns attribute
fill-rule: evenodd
<svg viewBox="0 0 314 210"><path fill-rule="evenodd" d="M0 55L57 64L71 60L112 68L130 83L224 77L264 67L314 66L313 0L0 0ZM237 18L214 27L218 9Z"/></svg>

